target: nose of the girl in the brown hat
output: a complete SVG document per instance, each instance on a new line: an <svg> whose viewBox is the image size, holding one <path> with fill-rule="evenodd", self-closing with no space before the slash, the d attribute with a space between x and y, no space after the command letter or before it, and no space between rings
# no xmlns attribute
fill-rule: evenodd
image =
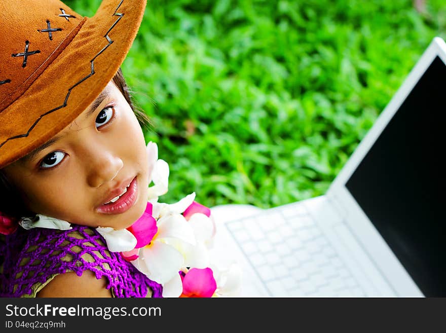
<svg viewBox="0 0 446 333"><path fill-rule="evenodd" d="M91 155L91 161L86 161L88 167L87 182L89 186L98 188L116 177L124 163L110 152Z"/></svg>

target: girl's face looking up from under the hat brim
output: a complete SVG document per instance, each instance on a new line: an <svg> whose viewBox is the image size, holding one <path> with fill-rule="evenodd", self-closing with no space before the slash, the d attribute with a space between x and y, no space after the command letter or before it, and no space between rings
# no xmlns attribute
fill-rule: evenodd
<svg viewBox="0 0 446 333"><path fill-rule="evenodd" d="M124 229L144 212L152 167L141 127L110 82L67 128L4 172L33 212Z"/></svg>

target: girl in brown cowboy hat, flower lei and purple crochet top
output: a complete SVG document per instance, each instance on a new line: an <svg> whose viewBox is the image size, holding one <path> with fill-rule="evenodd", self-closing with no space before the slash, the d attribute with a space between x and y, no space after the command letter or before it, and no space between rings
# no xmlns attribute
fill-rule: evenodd
<svg viewBox="0 0 446 333"><path fill-rule="evenodd" d="M146 147L147 119L119 70L144 8L141 0L103 0L83 18L58 0L0 4L4 297L216 290L205 258L210 211L195 194L157 202L168 166L155 144ZM207 289L195 290L196 279Z"/></svg>

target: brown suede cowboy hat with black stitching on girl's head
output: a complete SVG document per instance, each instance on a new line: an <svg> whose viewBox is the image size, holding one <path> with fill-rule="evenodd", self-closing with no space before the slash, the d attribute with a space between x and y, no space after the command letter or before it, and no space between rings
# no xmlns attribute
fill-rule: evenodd
<svg viewBox="0 0 446 333"><path fill-rule="evenodd" d="M0 168L68 126L132 45L145 0L103 0L82 17L58 0L0 1Z"/></svg>

